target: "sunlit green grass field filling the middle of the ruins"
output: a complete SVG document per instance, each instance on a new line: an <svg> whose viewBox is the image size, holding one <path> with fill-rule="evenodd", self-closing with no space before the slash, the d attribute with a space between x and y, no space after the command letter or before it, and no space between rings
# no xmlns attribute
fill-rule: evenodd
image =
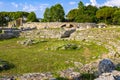
<svg viewBox="0 0 120 80"><path fill-rule="evenodd" d="M46 39L31 46L17 44L23 39L14 38L0 41L0 58L15 65L14 68L0 72L0 75L32 72L55 72L74 67L74 62L83 64L97 59L108 51L93 42ZM64 44L77 44L79 49L56 50ZM93 59L93 57L96 57ZM69 63L66 63L69 61Z"/></svg>

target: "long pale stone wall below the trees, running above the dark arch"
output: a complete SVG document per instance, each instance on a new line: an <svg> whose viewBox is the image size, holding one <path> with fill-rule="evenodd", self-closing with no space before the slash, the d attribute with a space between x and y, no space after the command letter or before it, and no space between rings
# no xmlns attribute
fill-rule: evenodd
<svg viewBox="0 0 120 80"><path fill-rule="evenodd" d="M97 25L95 23L75 23L75 22L46 22L46 23L29 22L29 23L23 24L23 26L21 26L21 27L22 28L26 28L26 27L34 28L34 27L36 27L37 29L61 28L62 25L69 25L69 24L72 24L73 27L80 29L80 30L97 27Z"/></svg>

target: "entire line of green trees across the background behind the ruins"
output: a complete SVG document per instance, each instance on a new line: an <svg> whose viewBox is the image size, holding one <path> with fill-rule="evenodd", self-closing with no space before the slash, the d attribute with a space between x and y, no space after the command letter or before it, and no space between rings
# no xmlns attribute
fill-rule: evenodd
<svg viewBox="0 0 120 80"><path fill-rule="evenodd" d="M0 12L0 26L7 25L9 21L18 18L27 18L28 22L36 22L37 17L34 12ZM120 8L102 6L96 7L93 5L84 5L82 1L78 3L78 7L71 9L66 15L61 4L55 4L50 8L46 8L42 22L103 22L106 24L120 25Z"/></svg>

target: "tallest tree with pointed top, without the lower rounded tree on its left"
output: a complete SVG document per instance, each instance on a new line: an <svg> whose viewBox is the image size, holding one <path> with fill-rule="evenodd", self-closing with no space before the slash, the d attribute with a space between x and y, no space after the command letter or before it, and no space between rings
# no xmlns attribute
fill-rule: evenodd
<svg viewBox="0 0 120 80"><path fill-rule="evenodd" d="M85 6L82 1L78 3L78 12L75 17L75 22L97 22L96 11L97 7L88 5Z"/></svg>

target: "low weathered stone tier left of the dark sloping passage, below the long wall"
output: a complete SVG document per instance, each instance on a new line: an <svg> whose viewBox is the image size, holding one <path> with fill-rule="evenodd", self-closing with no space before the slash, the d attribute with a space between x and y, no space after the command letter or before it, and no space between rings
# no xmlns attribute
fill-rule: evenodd
<svg viewBox="0 0 120 80"><path fill-rule="evenodd" d="M39 30L30 30L23 31L20 33L21 37L25 38L57 38L61 37L65 30L62 29L39 29Z"/></svg>

